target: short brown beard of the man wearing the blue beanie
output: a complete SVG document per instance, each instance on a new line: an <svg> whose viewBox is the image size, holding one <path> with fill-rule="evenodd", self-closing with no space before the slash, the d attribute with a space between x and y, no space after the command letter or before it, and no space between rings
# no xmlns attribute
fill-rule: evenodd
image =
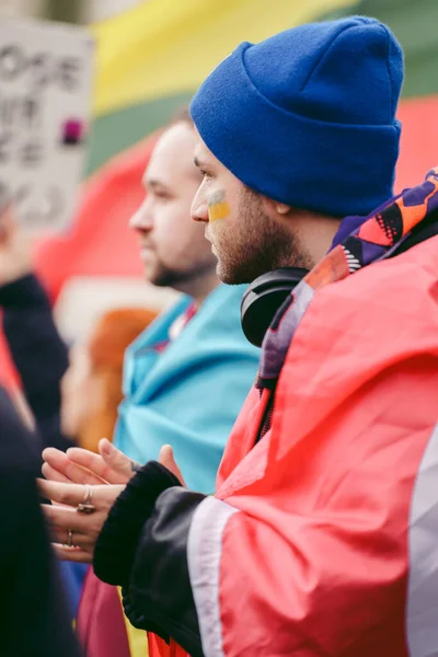
<svg viewBox="0 0 438 657"><path fill-rule="evenodd" d="M280 267L312 268L312 258L298 235L266 215L261 195L249 187L239 199L238 219L228 228L228 233L216 231L212 240L216 273L228 285L252 283Z"/></svg>

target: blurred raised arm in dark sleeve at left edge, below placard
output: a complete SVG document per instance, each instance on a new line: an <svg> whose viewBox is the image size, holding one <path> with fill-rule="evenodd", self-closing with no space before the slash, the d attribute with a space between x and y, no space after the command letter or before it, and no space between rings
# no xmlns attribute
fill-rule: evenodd
<svg viewBox="0 0 438 657"><path fill-rule="evenodd" d="M47 295L31 272L25 235L8 217L0 223L0 309L3 332L43 447L67 449L72 442L59 428L67 347L56 328Z"/></svg>

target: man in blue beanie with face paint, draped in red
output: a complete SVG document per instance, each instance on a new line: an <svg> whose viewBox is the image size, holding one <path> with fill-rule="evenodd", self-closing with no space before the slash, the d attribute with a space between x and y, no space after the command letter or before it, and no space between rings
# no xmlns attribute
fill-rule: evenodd
<svg viewBox="0 0 438 657"><path fill-rule="evenodd" d="M74 528L131 622L192 657L437 652L438 169L391 198L402 79L388 27L354 16L240 45L193 100L220 278L310 270L215 495L149 462Z"/></svg>

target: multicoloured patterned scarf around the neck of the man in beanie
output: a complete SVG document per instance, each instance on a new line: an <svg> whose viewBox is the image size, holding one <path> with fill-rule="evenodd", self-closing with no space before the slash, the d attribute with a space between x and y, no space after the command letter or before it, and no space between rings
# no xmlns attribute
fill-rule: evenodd
<svg viewBox="0 0 438 657"><path fill-rule="evenodd" d="M313 267L279 308L262 345L258 388L274 389L295 332L315 292L389 257L438 208L438 168L366 219ZM359 221L360 218L357 218Z"/></svg>

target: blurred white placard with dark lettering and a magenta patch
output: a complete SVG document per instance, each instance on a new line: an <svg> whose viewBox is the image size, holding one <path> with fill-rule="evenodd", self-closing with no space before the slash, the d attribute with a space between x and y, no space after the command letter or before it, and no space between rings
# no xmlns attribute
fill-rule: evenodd
<svg viewBox="0 0 438 657"><path fill-rule="evenodd" d="M65 230L83 174L93 39L76 25L0 21L0 211Z"/></svg>

